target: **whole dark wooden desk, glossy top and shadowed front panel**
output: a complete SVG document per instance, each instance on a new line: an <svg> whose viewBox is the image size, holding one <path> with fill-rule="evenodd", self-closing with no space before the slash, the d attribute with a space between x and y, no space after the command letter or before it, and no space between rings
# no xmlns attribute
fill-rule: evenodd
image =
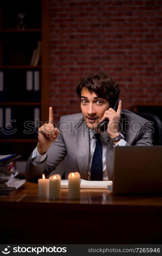
<svg viewBox="0 0 162 256"><path fill-rule="evenodd" d="M113 196L82 189L80 200L37 197L26 182L0 197L1 244L162 244L162 195Z"/></svg>

